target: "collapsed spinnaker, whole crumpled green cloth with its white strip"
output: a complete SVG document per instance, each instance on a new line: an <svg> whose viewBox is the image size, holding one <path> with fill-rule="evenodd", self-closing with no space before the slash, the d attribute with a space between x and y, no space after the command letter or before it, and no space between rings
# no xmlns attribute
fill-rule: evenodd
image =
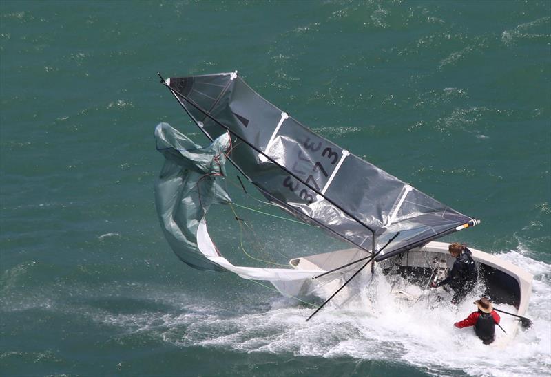
<svg viewBox="0 0 551 377"><path fill-rule="evenodd" d="M160 123L155 139L157 150L165 156L155 184L157 213L163 233L181 261L199 270L229 270L245 279L271 281L282 292L293 292L288 282L311 279L324 272L231 264L211 241L205 219L211 205L231 202L217 182L225 175L228 134L201 148L167 123Z"/></svg>

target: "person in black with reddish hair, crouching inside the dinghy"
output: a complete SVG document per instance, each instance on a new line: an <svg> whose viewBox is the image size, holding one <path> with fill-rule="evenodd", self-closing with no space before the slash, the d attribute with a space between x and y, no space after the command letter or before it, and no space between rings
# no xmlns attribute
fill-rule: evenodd
<svg viewBox="0 0 551 377"><path fill-rule="evenodd" d="M478 279L477 266L475 266L475 261L472 260L472 252L464 245L461 245L457 242L450 244L448 247L450 254L455 257L453 262L453 268L448 274L446 279L435 283L434 281L430 283L430 286L433 288L441 287L446 284L449 284L450 288L453 289L452 303L457 305L466 297L468 292L475 288L475 284Z"/></svg>

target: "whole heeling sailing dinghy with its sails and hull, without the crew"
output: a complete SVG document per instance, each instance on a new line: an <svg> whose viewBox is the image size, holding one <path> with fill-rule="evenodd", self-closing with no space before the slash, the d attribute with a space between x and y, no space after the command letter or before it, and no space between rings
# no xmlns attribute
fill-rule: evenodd
<svg viewBox="0 0 551 377"><path fill-rule="evenodd" d="M156 182L160 224L176 255L191 267L269 281L291 297L320 297L326 300L320 310L333 297L346 301L354 294L349 281L370 269L373 274L377 266L395 282L391 294L417 302L430 297L428 283L453 265L448 244L435 240L479 224L304 127L237 72L161 77L161 83L211 142L200 147L166 123L155 131L166 159ZM220 185L226 160L269 202L351 248L291 258L278 268L231 263L212 241L206 221L213 204L231 204ZM483 293L497 307L523 316L532 276L495 255L470 250ZM504 330L514 336L518 318L503 317L508 317Z"/></svg>

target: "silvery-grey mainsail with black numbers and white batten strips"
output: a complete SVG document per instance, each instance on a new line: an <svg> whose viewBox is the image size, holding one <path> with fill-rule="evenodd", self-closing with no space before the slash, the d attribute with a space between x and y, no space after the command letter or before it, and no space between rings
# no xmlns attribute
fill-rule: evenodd
<svg viewBox="0 0 551 377"><path fill-rule="evenodd" d="M230 160L268 200L377 260L477 224L304 127L236 72L165 85L210 139L229 131Z"/></svg>

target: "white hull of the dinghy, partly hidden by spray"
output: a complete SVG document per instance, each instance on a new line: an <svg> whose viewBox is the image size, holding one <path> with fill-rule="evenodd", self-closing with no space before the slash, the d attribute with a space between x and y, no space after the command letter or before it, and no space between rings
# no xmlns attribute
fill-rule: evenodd
<svg viewBox="0 0 551 377"><path fill-rule="evenodd" d="M424 277L419 275L419 281L422 281L422 283L419 283L417 286L413 287L413 285L410 284L408 287L407 284L405 286L404 284L397 284L393 286L391 291L392 294L395 294L397 299L417 302L419 299L424 299L424 297L419 296L426 296L429 292L426 288L430 276L426 274L428 273L430 275L431 271L437 272L437 269L435 269L435 261L443 261L443 263L440 263L441 266L445 266L444 263L446 263L448 268L452 268L454 258L448 253L448 245L449 244L443 242L433 241L422 248L415 248L404 253L402 257L397 256L382 261L378 263L379 266L377 266L377 268L399 266L402 270L412 273L422 274L425 272ZM472 251L472 258L475 259L477 267L479 268L479 278L481 281L484 281L484 286L486 288L485 294L492 299L495 307L519 316L525 316L532 290L532 275L495 255L490 255L474 248L469 248L469 250ZM291 259L290 263L293 268L299 270L329 271L342 266L343 260L353 261L366 256L368 256L368 254L363 250L346 249L312 255L310 257ZM357 268L358 266L362 266L363 263L357 263L356 265L350 266L348 269ZM365 270L366 272L362 273L369 273L371 266L367 266ZM339 270L339 272L333 272L333 274L321 279L302 282L297 281L292 287L287 287L291 288L291 290L286 290L284 294L291 294L293 296L315 295L321 299L327 299L342 286L345 279L351 276L350 272L342 274L343 272L346 272L346 269ZM335 277L337 277L337 279L335 279ZM408 290L408 288L413 289ZM278 287L278 289L280 289L280 287ZM430 294L437 294L437 292L441 292L442 297L446 297L446 292L444 292L443 288L430 290ZM351 288L347 286L341 290L333 300L335 300L335 303L343 303L349 299L352 294L354 294L354 292L351 292ZM446 297L446 302L449 301L449 297L450 294ZM472 305L472 302L469 302L460 305L458 309L460 311L458 315L461 316L461 313L465 310L464 317L466 317L470 313L468 310L474 311L476 307ZM508 314L500 315L501 326L507 334L503 334L498 328L496 329L497 341L495 345L498 346L508 343L510 338L517 334L519 328L519 319Z"/></svg>

